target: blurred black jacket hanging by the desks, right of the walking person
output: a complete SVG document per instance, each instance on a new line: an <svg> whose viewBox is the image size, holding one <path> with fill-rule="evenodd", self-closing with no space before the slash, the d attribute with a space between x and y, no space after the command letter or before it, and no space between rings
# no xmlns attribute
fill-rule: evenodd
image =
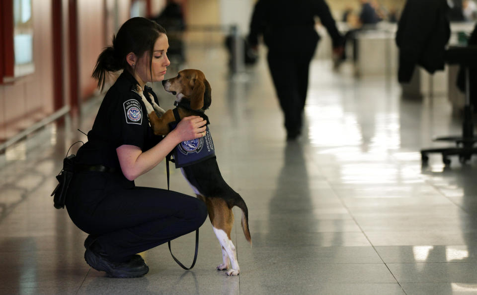
<svg viewBox="0 0 477 295"><path fill-rule="evenodd" d="M444 51L451 30L446 0L407 0L397 24L398 80L411 80L415 65L429 73L444 69Z"/></svg>

